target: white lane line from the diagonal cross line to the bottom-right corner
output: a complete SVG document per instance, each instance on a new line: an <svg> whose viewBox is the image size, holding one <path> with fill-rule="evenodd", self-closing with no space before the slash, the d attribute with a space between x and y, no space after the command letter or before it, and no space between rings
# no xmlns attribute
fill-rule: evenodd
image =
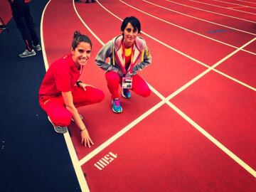
<svg viewBox="0 0 256 192"><path fill-rule="evenodd" d="M249 165L247 165L242 159L240 159L238 156L236 156L232 151L230 151L227 147L225 147L223 144L221 144L217 139L215 139L213 136L211 136L206 130L204 130L200 125L198 125L196 122L194 122L190 117L188 117L186 114L184 114L181 110L178 109L175 105L173 105L171 102L166 102L169 107L171 107L174 111L176 111L183 119L185 119L189 124L191 124L194 128L198 130L198 132L201 132L207 139L210 140L210 142L213 142L215 146L218 146L219 149L221 149L225 154L230 156L231 159L233 159L235 162L237 162L240 166L242 166L243 169L248 171L252 176L256 178L256 171L252 169Z"/></svg>

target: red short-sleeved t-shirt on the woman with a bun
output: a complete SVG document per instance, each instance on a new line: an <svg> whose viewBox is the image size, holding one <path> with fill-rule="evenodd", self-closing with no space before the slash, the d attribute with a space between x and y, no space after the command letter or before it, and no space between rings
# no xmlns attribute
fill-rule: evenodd
<svg viewBox="0 0 256 192"><path fill-rule="evenodd" d="M72 91L81 72L82 69L75 67L72 55L65 55L50 65L41 83L39 95L58 96L61 92Z"/></svg>

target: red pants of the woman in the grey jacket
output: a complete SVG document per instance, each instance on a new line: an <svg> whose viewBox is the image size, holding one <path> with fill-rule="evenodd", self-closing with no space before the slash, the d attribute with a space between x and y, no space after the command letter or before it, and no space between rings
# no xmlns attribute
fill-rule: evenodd
<svg viewBox="0 0 256 192"><path fill-rule="evenodd" d="M112 95L112 99L118 98L118 90L119 86L122 85L122 78L114 71L105 73L105 77L107 80L107 87ZM132 76L132 91L138 95L141 95L142 97L148 97L151 93L149 86L139 75Z"/></svg>

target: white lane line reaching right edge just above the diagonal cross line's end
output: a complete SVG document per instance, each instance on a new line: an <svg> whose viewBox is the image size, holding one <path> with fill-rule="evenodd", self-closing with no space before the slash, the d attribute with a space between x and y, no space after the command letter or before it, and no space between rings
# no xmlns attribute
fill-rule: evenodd
<svg viewBox="0 0 256 192"><path fill-rule="evenodd" d="M150 1L146 1L146 0L142 0L142 1L144 1L144 2L146 2L146 3L148 3L148 4L152 4L152 5L154 5L154 6L158 6L158 7L160 7L161 9L166 9L166 10L168 10L168 11L172 11L172 12L174 12L174 13L176 13L176 14L181 14L181 15L183 15L183 16L188 16L188 17L191 17L191 18L195 18L195 19L198 19L198 20L200 20L200 21L204 21L204 22L207 22L207 23L214 24L214 25L216 25L216 26L223 26L223 27L225 27L225 28L230 28L230 29L235 30L235 31L240 31L240 32L242 32L242 33L248 33L248 34L250 34L250 35L252 35L252 36L256 36L256 33L250 33L250 32L248 32L248 31L242 31L242 30L240 30L240 29L238 29L238 28L233 28L233 27L230 27L230 26L225 26L225 25L222 25L222 24L220 24L220 23L214 23L214 22L212 22L212 21L207 21L207 20L205 20L205 19L203 19L203 18L198 18L198 17L196 17L196 16L191 16L191 15L188 15L188 14L183 14L183 13L181 13L181 12L179 12L179 11L175 11L175 10L173 10L173 9L166 8L166 7L164 7L164 6L160 6L160 5L158 5L158 4L154 4L154 3L150 2Z"/></svg>

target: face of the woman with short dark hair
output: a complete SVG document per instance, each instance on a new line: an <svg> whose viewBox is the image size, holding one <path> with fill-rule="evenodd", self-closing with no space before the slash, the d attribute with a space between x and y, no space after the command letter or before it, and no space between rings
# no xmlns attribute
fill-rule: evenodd
<svg viewBox="0 0 256 192"><path fill-rule="evenodd" d="M139 32L138 28L134 28L131 23L127 23L127 26L122 33L124 36L124 46L130 48L134 44Z"/></svg>

